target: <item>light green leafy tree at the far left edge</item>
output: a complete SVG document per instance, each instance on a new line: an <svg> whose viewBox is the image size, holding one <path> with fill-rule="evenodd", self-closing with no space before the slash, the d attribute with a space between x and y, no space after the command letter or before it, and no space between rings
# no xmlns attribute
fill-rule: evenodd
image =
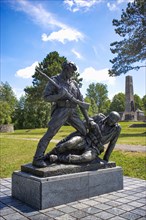
<svg viewBox="0 0 146 220"><path fill-rule="evenodd" d="M15 107L17 104L16 96L8 82L0 85L0 123L9 124L13 122Z"/></svg>

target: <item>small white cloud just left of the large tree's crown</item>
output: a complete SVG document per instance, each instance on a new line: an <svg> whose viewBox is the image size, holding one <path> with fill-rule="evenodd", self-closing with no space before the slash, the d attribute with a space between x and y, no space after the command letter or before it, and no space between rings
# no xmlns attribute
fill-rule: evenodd
<svg viewBox="0 0 146 220"><path fill-rule="evenodd" d="M16 72L16 76L28 79L31 78L35 72L35 67L38 65L38 61L34 62L31 66L20 69Z"/></svg>

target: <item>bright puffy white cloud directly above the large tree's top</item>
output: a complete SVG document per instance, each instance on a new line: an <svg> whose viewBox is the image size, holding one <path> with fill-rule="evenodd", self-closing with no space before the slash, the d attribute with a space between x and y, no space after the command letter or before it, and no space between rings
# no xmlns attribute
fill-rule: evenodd
<svg viewBox="0 0 146 220"><path fill-rule="evenodd" d="M56 32L52 32L50 35L42 35L43 41L59 41L65 44L67 41L79 41L84 38L83 34L73 28L65 28Z"/></svg>

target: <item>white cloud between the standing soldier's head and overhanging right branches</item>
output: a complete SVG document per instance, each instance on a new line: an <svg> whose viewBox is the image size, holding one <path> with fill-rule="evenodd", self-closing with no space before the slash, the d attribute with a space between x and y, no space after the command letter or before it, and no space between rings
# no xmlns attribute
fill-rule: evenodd
<svg viewBox="0 0 146 220"><path fill-rule="evenodd" d="M109 85L115 84L115 77L110 77L108 74L108 68L96 70L93 67L86 68L83 73L81 74L81 77L84 79L84 81L89 83L106 83Z"/></svg>

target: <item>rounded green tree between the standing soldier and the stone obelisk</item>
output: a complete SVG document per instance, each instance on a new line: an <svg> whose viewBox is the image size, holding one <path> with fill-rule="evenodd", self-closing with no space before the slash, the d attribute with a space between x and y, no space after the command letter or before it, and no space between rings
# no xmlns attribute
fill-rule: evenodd
<svg viewBox="0 0 146 220"><path fill-rule="evenodd" d="M91 100L94 100L98 112L106 112L106 102L108 101L108 91L107 91L107 85L102 83L91 83L89 85L89 88L87 89L86 96Z"/></svg>

